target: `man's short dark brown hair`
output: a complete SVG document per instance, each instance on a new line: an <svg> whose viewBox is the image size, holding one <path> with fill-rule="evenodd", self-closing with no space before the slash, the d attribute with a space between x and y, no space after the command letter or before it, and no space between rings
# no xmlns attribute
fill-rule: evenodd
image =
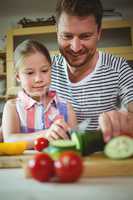
<svg viewBox="0 0 133 200"><path fill-rule="evenodd" d="M56 20L65 12L70 16L86 17L93 15L98 24L101 26L103 7L100 0L58 0L56 5Z"/></svg>

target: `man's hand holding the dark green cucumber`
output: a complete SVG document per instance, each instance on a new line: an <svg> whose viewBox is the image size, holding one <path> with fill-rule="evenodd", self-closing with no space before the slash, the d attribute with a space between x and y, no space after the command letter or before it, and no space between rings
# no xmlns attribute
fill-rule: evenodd
<svg viewBox="0 0 133 200"><path fill-rule="evenodd" d="M99 125L105 142L118 135L133 137L133 113L115 110L102 113Z"/></svg>

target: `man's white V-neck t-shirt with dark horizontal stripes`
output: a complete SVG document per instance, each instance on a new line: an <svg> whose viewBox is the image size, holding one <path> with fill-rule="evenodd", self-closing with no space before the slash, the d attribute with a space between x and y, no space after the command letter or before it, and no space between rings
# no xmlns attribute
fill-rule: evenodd
<svg viewBox="0 0 133 200"><path fill-rule="evenodd" d="M99 52L94 71L78 83L71 83L65 59L56 55L53 57L52 89L72 103L79 122L90 118L88 130L95 130L100 113L133 101L133 69L124 58Z"/></svg>

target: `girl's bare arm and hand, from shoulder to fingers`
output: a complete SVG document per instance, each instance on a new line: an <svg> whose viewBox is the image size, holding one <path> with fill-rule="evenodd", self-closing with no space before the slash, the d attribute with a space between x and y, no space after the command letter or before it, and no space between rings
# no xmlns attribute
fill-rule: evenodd
<svg viewBox="0 0 133 200"><path fill-rule="evenodd" d="M69 112L70 113L70 112ZM75 124L74 115L70 118L72 121L69 126ZM70 122L69 120L69 122ZM33 133L20 132L20 120L16 111L15 100L9 100L4 107L2 117L2 131L4 142L27 141L28 149L33 148L34 140L37 137L46 137L48 140L56 140L59 138L69 139L66 134L69 129L68 124L63 118L57 119L48 130L41 130Z"/></svg>

